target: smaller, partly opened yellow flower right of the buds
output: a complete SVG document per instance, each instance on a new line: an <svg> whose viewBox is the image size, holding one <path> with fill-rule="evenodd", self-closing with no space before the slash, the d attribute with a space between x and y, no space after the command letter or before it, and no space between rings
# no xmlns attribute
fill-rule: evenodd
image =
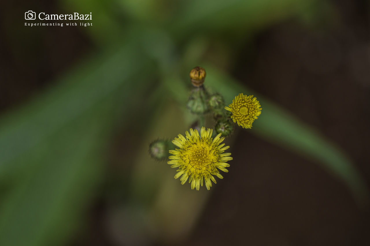
<svg viewBox="0 0 370 246"><path fill-rule="evenodd" d="M225 107L225 109L232 113L233 122L243 128L252 128L253 121L258 119L262 110L257 98L253 98L253 95L243 95L243 93L236 96L229 107Z"/></svg>

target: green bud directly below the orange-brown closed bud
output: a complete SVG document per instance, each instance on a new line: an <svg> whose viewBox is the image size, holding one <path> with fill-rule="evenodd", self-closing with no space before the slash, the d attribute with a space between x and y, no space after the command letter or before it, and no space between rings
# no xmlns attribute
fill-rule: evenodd
<svg viewBox="0 0 370 246"><path fill-rule="evenodd" d="M203 87L192 89L187 106L192 113L204 114L208 112L208 93Z"/></svg>

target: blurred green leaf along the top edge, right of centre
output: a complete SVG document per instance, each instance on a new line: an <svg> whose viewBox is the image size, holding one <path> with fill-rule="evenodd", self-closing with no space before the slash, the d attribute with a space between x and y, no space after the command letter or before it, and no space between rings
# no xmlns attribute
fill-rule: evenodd
<svg viewBox="0 0 370 246"><path fill-rule="evenodd" d="M179 37L205 33L240 34L296 14L316 0L183 1L171 30Z"/></svg>

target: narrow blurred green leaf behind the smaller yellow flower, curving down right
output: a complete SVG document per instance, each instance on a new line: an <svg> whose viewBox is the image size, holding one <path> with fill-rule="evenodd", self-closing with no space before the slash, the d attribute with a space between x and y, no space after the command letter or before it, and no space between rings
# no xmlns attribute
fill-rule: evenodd
<svg viewBox="0 0 370 246"><path fill-rule="evenodd" d="M366 182L343 150L286 110L263 96L256 95L212 65L206 65L206 68L208 85L222 92L226 104L231 103L239 93L254 94L258 98L262 114L253 123L251 133L315 158L324 168L345 182L360 206L367 204L369 191Z"/></svg>

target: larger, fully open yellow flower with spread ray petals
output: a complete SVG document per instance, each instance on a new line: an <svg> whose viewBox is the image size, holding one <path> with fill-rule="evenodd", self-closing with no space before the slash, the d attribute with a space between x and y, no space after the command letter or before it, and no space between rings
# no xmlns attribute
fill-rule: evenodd
<svg viewBox="0 0 370 246"><path fill-rule="evenodd" d="M197 130L190 129L185 132L186 138L181 134L178 138L172 140L179 149L170 150L169 153L173 156L168 158L168 164L171 164L172 168L178 167L176 170L178 173L175 178L180 178L181 184L189 178L191 183L191 189L196 188L199 191L199 187L203 186L203 178L206 188L212 186L211 180L216 184L216 175L219 178L223 178L219 173L219 170L228 172L226 167L230 167L226 161L232 160L230 157L231 153L224 153L230 146L224 147L224 143L220 144L225 138L218 134L215 139L212 140L212 129L205 130L204 127L201 129L201 134ZM219 170L218 170L218 169Z"/></svg>

